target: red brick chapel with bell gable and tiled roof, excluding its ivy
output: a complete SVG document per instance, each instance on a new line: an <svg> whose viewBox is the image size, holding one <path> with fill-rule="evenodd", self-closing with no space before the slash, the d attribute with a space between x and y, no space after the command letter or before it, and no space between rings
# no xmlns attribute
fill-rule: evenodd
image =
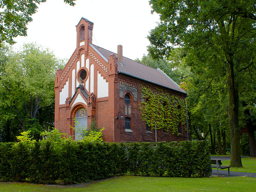
<svg viewBox="0 0 256 192"><path fill-rule="evenodd" d="M93 23L81 18L76 25L76 50L55 78L56 129L77 139L74 118L89 126L94 118L106 142L155 141L154 129L148 129L138 109L141 86L161 89L185 100L180 89L159 68L154 69L123 57L122 45L117 54L92 44ZM111 43L111 42L110 42ZM120 118L122 117L122 118ZM157 141L187 140L187 129L180 135L157 130Z"/></svg>

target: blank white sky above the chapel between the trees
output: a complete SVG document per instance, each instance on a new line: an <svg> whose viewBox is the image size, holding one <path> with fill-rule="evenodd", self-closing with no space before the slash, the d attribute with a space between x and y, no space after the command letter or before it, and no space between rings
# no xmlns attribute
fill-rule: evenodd
<svg viewBox="0 0 256 192"><path fill-rule="evenodd" d="M16 37L14 46L36 42L50 48L59 58L70 58L76 49L76 25L84 17L93 25L92 44L117 52L132 60L147 54L149 31L159 21L151 14L148 0L76 0L74 7L64 0L47 0L38 5L27 27L26 37ZM96 39L96 41L95 41Z"/></svg>

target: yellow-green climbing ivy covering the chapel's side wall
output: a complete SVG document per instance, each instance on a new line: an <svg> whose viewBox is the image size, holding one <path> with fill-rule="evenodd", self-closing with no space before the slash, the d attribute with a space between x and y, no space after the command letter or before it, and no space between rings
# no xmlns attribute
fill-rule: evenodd
<svg viewBox="0 0 256 192"><path fill-rule="evenodd" d="M177 96L170 96L162 90L153 92L148 87L141 86L141 95L145 98L139 105L141 119L154 128L166 132L178 133L178 125L186 124L185 101Z"/></svg>

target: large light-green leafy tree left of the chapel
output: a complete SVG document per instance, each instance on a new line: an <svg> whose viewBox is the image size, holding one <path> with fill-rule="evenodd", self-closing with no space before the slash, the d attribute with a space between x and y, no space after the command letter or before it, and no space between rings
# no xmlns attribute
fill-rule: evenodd
<svg viewBox="0 0 256 192"><path fill-rule="evenodd" d="M39 136L43 123L38 111L43 115L46 108L54 106L54 79L59 62L52 52L36 44L24 44L20 52L9 51L1 68L0 115L14 114L8 119L19 120L24 131L31 130L34 137ZM50 111L53 112L48 110L47 115L53 116ZM44 116L44 121L47 119L51 121L52 117Z"/></svg>

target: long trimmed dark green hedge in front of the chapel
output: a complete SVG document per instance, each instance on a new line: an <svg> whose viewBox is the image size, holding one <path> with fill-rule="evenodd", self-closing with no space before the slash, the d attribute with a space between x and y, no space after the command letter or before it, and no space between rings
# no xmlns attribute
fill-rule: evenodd
<svg viewBox="0 0 256 192"><path fill-rule="evenodd" d="M79 183L115 175L207 177L203 141L0 143L0 180Z"/></svg>

